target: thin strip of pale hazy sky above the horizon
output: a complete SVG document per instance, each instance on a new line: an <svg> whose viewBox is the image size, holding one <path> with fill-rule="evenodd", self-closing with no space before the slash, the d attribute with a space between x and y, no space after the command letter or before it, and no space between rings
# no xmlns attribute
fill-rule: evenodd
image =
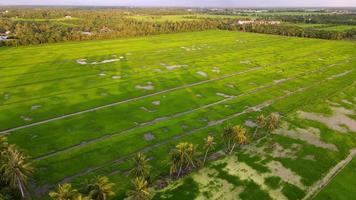
<svg viewBox="0 0 356 200"><path fill-rule="evenodd" d="M356 7L356 0L0 0L0 5Z"/></svg>

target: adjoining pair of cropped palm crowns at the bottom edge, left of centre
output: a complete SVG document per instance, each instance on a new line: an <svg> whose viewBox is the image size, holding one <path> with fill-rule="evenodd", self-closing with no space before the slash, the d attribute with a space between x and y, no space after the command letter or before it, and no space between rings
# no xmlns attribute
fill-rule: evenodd
<svg viewBox="0 0 356 200"><path fill-rule="evenodd" d="M97 176L84 184L82 193L73 188L71 184L59 184L56 191L51 191L49 196L53 200L106 200L114 196L114 183L106 176Z"/></svg>

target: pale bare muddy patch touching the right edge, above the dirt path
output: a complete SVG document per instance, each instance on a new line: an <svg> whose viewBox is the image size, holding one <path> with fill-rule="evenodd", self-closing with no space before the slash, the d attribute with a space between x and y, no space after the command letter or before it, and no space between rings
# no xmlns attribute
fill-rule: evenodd
<svg viewBox="0 0 356 200"><path fill-rule="evenodd" d="M303 119L320 122L328 128L341 133L356 132L356 121L349 117L349 115L355 115L353 110L343 107L331 107L331 110L333 112L332 116L323 116L304 111L298 111L298 116Z"/></svg>

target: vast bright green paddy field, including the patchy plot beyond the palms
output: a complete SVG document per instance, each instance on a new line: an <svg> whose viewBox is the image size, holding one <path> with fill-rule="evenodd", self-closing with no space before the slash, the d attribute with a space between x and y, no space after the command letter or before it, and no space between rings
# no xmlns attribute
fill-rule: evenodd
<svg viewBox="0 0 356 200"><path fill-rule="evenodd" d="M319 129L319 139L338 151L273 134L246 145L237 160L225 158L228 164L213 169L217 172L211 177L226 178L209 187L227 184L236 189L232 195L245 199L252 194L260 199L300 198L356 146L353 135L296 113L332 115L326 113L326 99L354 109L355 49L355 43L346 41L218 30L1 48L0 130L31 157L36 198L57 183L79 188L97 175L115 183L119 198L131 187L128 174L137 152L150 158L154 182L168 176L169 152L177 143L203 145L207 135L221 141L227 123L244 125L261 113L278 112L291 129ZM248 149L255 145L267 153ZM275 148L292 155L274 156ZM258 178L230 174L240 162ZM299 181L281 178L282 192L273 193L276 183L265 187L259 182L277 176L268 167L271 162L291 170ZM199 195L195 187L177 188L187 197Z"/></svg>

